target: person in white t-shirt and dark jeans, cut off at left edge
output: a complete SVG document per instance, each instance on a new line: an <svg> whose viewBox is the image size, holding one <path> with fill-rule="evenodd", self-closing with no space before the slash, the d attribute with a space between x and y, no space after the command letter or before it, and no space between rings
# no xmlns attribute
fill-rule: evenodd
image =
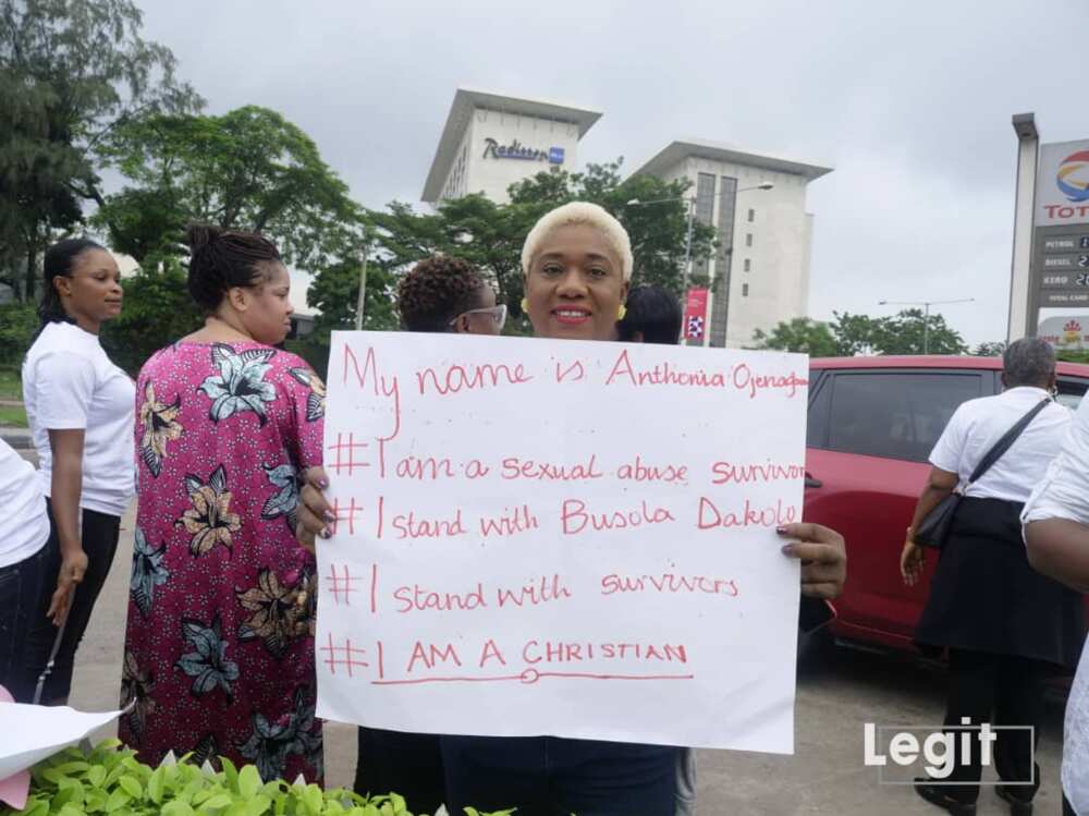
<svg viewBox="0 0 1089 816"><path fill-rule="evenodd" d="M29 462L0 439L0 508L8 532L0 536L0 685L16 703L30 703L44 668L26 656L48 572L46 499Z"/></svg>

